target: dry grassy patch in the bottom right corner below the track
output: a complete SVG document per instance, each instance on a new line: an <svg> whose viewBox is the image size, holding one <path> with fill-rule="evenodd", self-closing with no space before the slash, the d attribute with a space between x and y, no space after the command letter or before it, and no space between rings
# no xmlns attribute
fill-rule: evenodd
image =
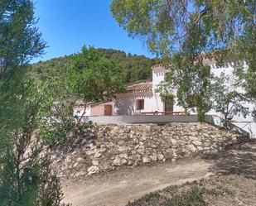
<svg viewBox="0 0 256 206"><path fill-rule="evenodd" d="M241 175L212 176L146 194L127 206L256 205L256 180Z"/></svg>

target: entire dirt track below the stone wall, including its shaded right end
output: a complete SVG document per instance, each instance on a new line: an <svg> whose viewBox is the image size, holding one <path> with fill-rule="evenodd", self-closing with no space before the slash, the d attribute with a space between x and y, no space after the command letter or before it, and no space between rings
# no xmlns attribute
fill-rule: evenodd
<svg viewBox="0 0 256 206"><path fill-rule="evenodd" d="M200 180L216 173L256 178L256 145L246 144L218 156L120 168L84 180L63 180L62 184L65 202L73 206L124 205L171 184Z"/></svg>

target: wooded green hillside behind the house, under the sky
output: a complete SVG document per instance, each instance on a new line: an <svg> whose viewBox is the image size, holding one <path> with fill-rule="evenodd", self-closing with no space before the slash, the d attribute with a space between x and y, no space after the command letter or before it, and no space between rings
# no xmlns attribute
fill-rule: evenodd
<svg viewBox="0 0 256 206"><path fill-rule="evenodd" d="M152 78L152 65L160 63L158 59L150 59L144 55L126 54L122 50L96 49L99 55L114 61L122 70L123 80L127 83ZM38 62L33 65L36 73L48 73L51 71L64 71L68 68L69 61L73 55L65 55L60 58Z"/></svg>

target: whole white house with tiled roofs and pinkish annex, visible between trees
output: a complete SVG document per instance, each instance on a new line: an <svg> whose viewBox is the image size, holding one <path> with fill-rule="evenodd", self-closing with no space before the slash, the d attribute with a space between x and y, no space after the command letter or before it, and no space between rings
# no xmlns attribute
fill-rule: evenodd
<svg viewBox="0 0 256 206"><path fill-rule="evenodd" d="M225 74L229 77L229 89L243 92L243 89L234 86L234 68L232 64L225 64L225 67L217 68L215 61L205 60L205 64L210 65L210 71L216 76ZM159 93L156 93L157 86L165 80L168 70L163 65L155 65L152 67L152 82L142 82L128 85L126 93L117 93L113 102L92 103L86 108L85 116L109 116L109 115L139 115L139 114L162 114L162 113L183 113L181 108L174 103L163 103ZM174 93L174 96L176 94ZM246 103L244 105L249 111L256 110L256 100L254 103ZM75 113L83 113L83 108L76 108ZM211 110L210 115L221 117L221 113ZM233 123L238 127L256 135L256 122L252 115L248 117L235 116Z"/></svg>

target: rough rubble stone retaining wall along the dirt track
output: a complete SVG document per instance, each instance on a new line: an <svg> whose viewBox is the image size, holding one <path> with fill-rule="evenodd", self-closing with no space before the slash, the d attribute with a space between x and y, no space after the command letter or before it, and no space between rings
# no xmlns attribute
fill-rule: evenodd
<svg viewBox="0 0 256 206"><path fill-rule="evenodd" d="M93 125L56 150L53 165L66 178L93 175L124 165L216 153L240 138L239 132L199 122Z"/></svg>

